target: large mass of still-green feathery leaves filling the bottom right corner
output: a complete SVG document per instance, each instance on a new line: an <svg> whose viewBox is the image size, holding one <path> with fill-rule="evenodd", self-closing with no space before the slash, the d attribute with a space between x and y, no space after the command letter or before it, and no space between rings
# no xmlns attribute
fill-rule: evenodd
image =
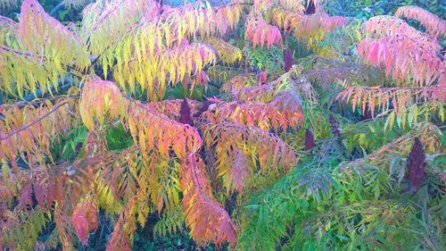
<svg viewBox="0 0 446 251"><path fill-rule="evenodd" d="M321 150L330 150L327 146L330 144ZM284 179L252 197L244 205L246 222L242 223L238 247L241 250L424 247L440 250L443 247L442 216L434 213L441 208L441 201L428 192L431 186L438 186L439 180L429 180L416 194L401 194L404 185L392 180L396 171L389 173L373 163L339 164L342 155L332 148L327 154L309 156ZM393 160L400 161L399 168L404 168L405 158L395 156ZM431 172L438 171L437 162L429 163ZM426 236L429 236L427 242Z"/></svg>

